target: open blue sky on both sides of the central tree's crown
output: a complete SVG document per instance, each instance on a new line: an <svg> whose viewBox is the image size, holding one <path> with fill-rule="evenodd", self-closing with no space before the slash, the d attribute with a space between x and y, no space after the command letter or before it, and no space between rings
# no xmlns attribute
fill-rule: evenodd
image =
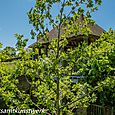
<svg viewBox="0 0 115 115"><path fill-rule="evenodd" d="M34 6L35 0L0 0L0 42L3 47L15 47L15 33L30 38L32 25L29 24L27 12ZM92 18L104 30L115 30L115 0L103 0L99 10ZM35 42L29 40L28 45Z"/></svg>

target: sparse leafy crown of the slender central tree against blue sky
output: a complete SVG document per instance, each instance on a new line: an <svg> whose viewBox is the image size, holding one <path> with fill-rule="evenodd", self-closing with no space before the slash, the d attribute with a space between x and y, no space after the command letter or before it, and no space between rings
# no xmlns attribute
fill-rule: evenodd
<svg viewBox="0 0 115 115"><path fill-rule="evenodd" d="M51 28L59 29L57 25L65 23L76 12L79 15L86 14L87 17L91 17L91 13L97 10L99 5L101 5L101 0L37 0L35 7L28 12L29 22L35 28L31 30L32 39L37 37L39 40L42 37L47 41L49 39L47 34ZM54 17L52 11L55 8L58 11Z"/></svg>

